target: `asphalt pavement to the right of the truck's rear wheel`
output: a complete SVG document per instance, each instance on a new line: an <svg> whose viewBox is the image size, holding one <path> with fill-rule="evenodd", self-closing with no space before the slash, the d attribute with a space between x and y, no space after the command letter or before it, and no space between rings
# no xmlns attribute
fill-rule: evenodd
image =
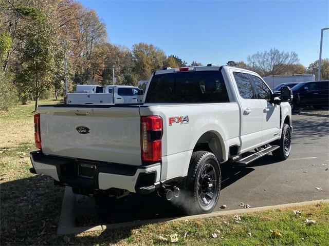
<svg viewBox="0 0 329 246"><path fill-rule="evenodd" d="M267 155L245 168L223 168L217 210L221 204L237 209L240 202L260 207L329 198L329 119L293 115L293 127L287 160Z"/></svg>

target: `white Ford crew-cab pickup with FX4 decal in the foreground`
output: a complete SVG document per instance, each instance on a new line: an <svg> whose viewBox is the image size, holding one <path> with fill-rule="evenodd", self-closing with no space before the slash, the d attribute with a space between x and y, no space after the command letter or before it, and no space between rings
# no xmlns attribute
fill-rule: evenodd
<svg viewBox="0 0 329 246"><path fill-rule="evenodd" d="M40 150L30 153L30 171L75 193L156 191L193 213L208 213L220 195L222 165L248 165L270 152L288 158L289 100L290 88L274 94L244 69L159 70L143 104L39 106Z"/></svg>

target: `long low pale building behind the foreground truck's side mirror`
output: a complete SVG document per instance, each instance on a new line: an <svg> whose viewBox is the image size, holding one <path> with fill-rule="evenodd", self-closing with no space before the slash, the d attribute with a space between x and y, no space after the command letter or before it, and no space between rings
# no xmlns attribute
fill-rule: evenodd
<svg viewBox="0 0 329 246"><path fill-rule="evenodd" d="M285 74L285 75L274 75L274 78L272 76L267 76L263 78L266 84L273 89L277 85L281 83L290 83L290 82L307 82L307 81L315 81L315 75L314 74Z"/></svg>

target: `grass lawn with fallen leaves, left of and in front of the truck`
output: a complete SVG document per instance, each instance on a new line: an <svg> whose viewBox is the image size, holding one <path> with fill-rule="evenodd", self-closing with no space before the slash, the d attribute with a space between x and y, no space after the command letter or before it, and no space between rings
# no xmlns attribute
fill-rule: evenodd
<svg viewBox="0 0 329 246"><path fill-rule="evenodd" d="M57 103L43 100L41 104ZM329 245L329 204L58 236L63 188L32 175L34 104L0 117L0 245ZM307 226L306 219L316 220ZM212 234L216 234L211 236ZM177 234L177 235L175 235ZM161 236L161 237L160 237ZM176 242L171 242L171 236Z"/></svg>

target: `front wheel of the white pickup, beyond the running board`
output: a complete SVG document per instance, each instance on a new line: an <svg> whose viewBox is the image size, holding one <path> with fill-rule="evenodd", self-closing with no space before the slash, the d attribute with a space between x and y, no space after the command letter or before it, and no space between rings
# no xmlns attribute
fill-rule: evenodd
<svg viewBox="0 0 329 246"><path fill-rule="evenodd" d="M286 137L289 141L288 151L286 149L285 141L287 141ZM272 155L278 160L286 160L289 157L291 151L291 129L289 125L283 124L281 138L274 141L273 145L278 145L280 148L273 151Z"/></svg>

